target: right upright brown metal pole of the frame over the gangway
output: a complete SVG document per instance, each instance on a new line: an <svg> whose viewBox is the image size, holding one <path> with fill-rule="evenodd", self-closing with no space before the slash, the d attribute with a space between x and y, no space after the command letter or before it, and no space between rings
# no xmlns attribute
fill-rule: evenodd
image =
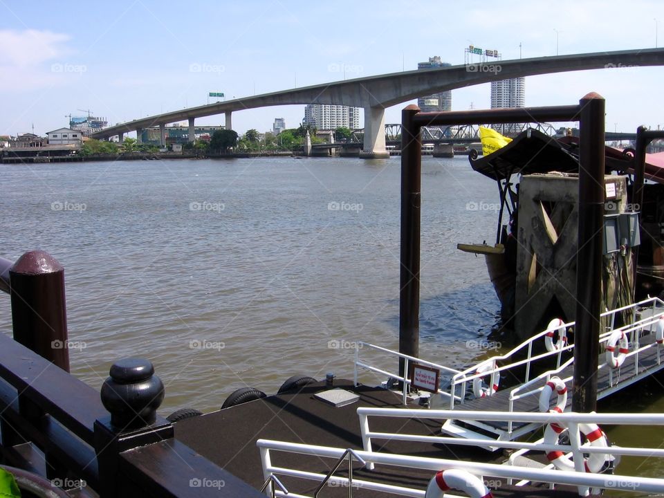
<svg viewBox="0 0 664 498"><path fill-rule="evenodd" d="M605 202L605 100L589 93L580 101L579 227L576 263L573 412L597 405L602 237Z"/></svg>

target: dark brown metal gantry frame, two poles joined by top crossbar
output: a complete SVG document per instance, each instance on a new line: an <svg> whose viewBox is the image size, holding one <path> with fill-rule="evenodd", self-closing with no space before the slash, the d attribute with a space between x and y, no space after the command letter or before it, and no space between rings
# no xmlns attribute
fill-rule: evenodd
<svg viewBox="0 0 664 498"><path fill-rule="evenodd" d="M402 111L401 121L401 255L399 297L399 352L418 355L421 241L421 129L454 124L507 124L514 122L580 123L579 154L579 289L576 308L573 410L596 407L602 227L604 208L605 100L585 95L578 105L522 107L481 111L423 113L416 105ZM403 376L403 362L400 374Z"/></svg>

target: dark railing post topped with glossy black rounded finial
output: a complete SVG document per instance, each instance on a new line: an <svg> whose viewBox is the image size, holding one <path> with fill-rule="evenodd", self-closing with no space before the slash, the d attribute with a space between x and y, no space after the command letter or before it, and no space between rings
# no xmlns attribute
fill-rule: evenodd
<svg viewBox="0 0 664 498"><path fill-rule="evenodd" d="M172 439L173 425L156 414L164 399L164 385L154 375L151 362L126 358L111 366L101 398L111 415L95 421L94 427L100 496L133 495L120 486L120 453Z"/></svg>

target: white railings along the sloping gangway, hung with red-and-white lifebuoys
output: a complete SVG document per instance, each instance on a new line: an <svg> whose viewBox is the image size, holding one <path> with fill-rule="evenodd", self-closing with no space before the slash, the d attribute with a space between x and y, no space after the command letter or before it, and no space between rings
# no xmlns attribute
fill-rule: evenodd
<svg viewBox="0 0 664 498"><path fill-rule="evenodd" d="M658 311L658 306L660 306L660 311ZM639 335L643 331L647 331L648 333L654 332L654 330L652 330L653 325L656 323L658 317L664 315L664 308L661 308L661 306L664 306L664 302L661 299L659 299L658 297L649 297L647 299L643 299L643 301L640 301L638 303L629 304L628 306L622 306L620 308L616 308L611 311L605 311L605 313L602 313L600 316L607 318L609 326L607 326L608 329L607 331L600 334L600 343L607 342L607 340L609 340L609 337L611 336L611 333L613 333L614 330L622 330L625 333L631 334L632 340L630 341L630 344L636 344L636 349L634 351L631 351L627 356L633 356L633 355L637 356L636 358L637 361L635 362L635 368L638 371L638 352L643 351L649 347L652 347L652 344L648 344L643 348L639 348L638 347ZM650 307L652 309L652 315L646 318L640 318L636 320L636 313L639 310L639 308L647 308L647 307ZM614 325L616 322L616 315L618 313L625 313L625 312L631 312L633 323L621 326L618 329L614 329ZM454 408L454 404L457 400L460 400L461 403L463 404L463 401L465 400L466 383L472 382L477 378L483 378L485 376L493 378L495 375L499 376L501 373L505 373L507 371L513 371L517 369L517 367L525 366L526 368L525 378L522 381L523 383L519 386L520 388L524 388L526 386L533 385L533 380L541 380L543 378L543 376L540 375L537 376L535 379L531 380L531 365L533 365L533 363L538 360L546 360L548 358L554 358L554 357L556 358L556 369L551 372L562 371L564 367L571 364L571 359L563 362L562 354L567 351L573 351L574 344L567 344L566 346L561 347L560 349L554 351L546 351L545 353L539 353L535 356L533 356L533 344L535 344L535 342L537 342L538 340L542 340L546 336L546 334L555 332L557 331L557 329L562 328L562 326L564 326L565 329L571 329L573 328L574 325L575 322L569 322L563 325L554 326L551 329L546 329L540 333L533 335L533 337L522 342L511 351L508 351L508 353L504 353L498 356L492 356L492 358L483 360L479 362L477 365L473 365L472 367L468 367L465 370L460 371L458 374L454 374L454 376L452 376L452 384L450 385L450 393L448 393L448 398L450 400L450 409ZM513 358L521 358L524 350L526 351L526 358L520 360L513 360ZM510 360L512 361L510 362ZM658 352L658 360L659 360L659 352ZM499 366L498 365L499 362L501 362L503 365ZM481 368L485 365L490 365L490 367L488 367L487 369ZM481 372L478 371L480 368ZM548 374L551 374L551 372L549 372ZM513 375L516 376L516 374ZM613 382L612 372L610 376L612 384ZM461 396L457 395L457 386L461 387ZM528 395L534 394L535 392L539 392L541 390L542 388L540 387L540 389L532 391L531 393L528 393ZM510 401L513 402L512 394L510 394ZM510 403L510 410L512 409L512 405L513 403Z"/></svg>

